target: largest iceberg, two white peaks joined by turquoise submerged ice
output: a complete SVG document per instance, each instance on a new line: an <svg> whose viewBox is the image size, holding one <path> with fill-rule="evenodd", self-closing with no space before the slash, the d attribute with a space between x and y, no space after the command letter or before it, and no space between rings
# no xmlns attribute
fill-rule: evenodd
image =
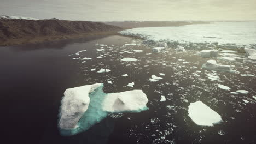
<svg viewBox="0 0 256 144"><path fill-rule="evenodd" d="M104 93L102 83L66 89L61 100L59 128L63 136L88 130L110 113L147 110L142 90Z"/></svg>

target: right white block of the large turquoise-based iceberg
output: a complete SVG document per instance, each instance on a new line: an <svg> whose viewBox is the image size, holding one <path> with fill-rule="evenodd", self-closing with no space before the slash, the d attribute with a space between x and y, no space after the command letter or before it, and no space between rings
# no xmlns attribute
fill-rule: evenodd
<svg viewBox="0 0 256 144"><path fill-rule="evenodd" d="M147 110L148 98L142 90L107 94L102 108L107 112L141 112Z"/></svg>

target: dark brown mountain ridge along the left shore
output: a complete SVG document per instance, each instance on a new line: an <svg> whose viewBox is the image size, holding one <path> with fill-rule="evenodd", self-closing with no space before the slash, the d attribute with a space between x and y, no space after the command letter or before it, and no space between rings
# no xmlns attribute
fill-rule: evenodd
<svg viewBox="0 0 256 144"><path fill-rule="evenodd" d="M27 17L0 17L0 45L27 44L71 39L95 34L114 34L120 27L102 22L36 20Z"/></svg>

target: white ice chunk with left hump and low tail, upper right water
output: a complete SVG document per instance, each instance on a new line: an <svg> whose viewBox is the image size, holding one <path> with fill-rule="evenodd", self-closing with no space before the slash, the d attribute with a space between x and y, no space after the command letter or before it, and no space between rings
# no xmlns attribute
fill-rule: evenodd
<svg viewBox="0 0 256 144"><path fill-rule="evenodd" d="M221 65L217 64L215 60L208 60L205 64L202 65L203 68L208 70L221 70L221 71L230 71L230 65Z"/></svg>

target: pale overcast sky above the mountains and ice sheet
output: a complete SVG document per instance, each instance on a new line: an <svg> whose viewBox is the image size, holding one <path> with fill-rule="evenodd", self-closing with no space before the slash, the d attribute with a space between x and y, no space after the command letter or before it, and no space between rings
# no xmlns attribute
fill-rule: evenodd
<svg viewBox="0 0 256 144"><path fill-rule="evenodd" d="M256 0L0 0L0 15L65 20L256 20Z"/></svg>

